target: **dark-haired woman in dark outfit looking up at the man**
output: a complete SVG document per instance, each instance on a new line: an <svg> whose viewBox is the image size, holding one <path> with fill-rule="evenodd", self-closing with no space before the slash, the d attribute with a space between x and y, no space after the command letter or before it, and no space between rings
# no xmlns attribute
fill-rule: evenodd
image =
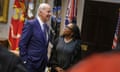
<svg viewBox="0 0 120 72"><path fill-rule="evenodd" d="M76 24L68 24L54 43L50 65L51 72L64 72L81 58L80 31Z"/></svg>

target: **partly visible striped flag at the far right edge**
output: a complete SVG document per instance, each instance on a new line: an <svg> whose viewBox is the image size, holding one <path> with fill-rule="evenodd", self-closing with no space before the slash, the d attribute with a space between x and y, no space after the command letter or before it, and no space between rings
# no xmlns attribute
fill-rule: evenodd
<svg viewBox="0 0 120 72"><path fill-rule="evenodd" d="M119 10L118 22L117 22L117 26L116 26L116 30L113 38L112 49L115 49L117 47L119 36L120 36L120 10Z"/></svg>

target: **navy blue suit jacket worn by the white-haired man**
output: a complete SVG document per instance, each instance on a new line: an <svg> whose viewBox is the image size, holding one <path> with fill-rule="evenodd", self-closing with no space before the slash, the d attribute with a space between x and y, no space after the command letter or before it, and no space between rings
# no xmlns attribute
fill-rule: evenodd
<svg viewBox="0 0 120 72"><path fill-rule="evenodd" d="M23 61L32 63L36 68L42 66L42 63L47 64L48 41L46 41L37 19L26 22L19 48L20 57Z"/></svg>

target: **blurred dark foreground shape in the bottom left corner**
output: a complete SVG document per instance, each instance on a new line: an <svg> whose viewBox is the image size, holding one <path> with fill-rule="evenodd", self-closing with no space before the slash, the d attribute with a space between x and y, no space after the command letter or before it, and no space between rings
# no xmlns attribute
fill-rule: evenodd
<svg viewBox="0 0 120 72"><path fill-rule="evenodd" d="M0 72L27 72L18 56L0 45Z"/></svg>

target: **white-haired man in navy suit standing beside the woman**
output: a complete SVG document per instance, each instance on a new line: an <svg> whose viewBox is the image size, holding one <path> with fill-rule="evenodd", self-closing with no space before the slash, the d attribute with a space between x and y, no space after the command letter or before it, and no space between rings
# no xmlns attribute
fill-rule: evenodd
<svg viewBox="0 0 120 72"><path fill-rule="evenodd" d="M28 68L28 72L44 72L48 62L47 48L51 8L47 3L40 4L37 17L26 21L19 43L20 57Z"/></svg>

